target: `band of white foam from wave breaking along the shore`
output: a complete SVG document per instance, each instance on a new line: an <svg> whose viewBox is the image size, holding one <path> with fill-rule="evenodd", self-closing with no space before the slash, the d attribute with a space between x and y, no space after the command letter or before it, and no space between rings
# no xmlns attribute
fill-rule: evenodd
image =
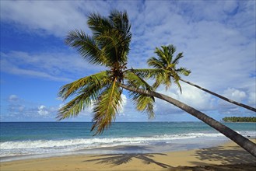
<svg viewBox="0 0 256 171"><path fill-rule="evenodd" d="M250 136L255 131L243 132ZM157 143L184 143L198 144L202 139L223 138L220 133L190 133L190 134L163 134L150 137L124 137L124 138L75 138L65 140L37 140L37 141L5 141L0 143L0 157L11 157L20 155L41 155L61 152L75 152L93 148L108 148L119 145L156 145ZM192 140L192 141L191 141Z"/></svg>

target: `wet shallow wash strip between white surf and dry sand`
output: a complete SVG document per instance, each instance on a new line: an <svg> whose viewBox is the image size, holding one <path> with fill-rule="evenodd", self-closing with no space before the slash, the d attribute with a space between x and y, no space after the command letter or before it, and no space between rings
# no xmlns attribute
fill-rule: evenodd
<svg viewBox="0 0 256 171"><path fill-rule="evenodd" d="M130 144L130 145L114 145L89 149L78 149L70 152L55 152L34 155L14 155L2 156L1 162L12 162L19 160L30 159L45 159L53 157L65 157L68 155L106 155L106 154L132 154L132 153L167 153L167 152L181 152L185 150L193 150L199 148L211 148L217 145L222 145L229 140L225 137L218 138L187 138L180 140L173 140L172 143L157 143L157 144Z"/></svg>

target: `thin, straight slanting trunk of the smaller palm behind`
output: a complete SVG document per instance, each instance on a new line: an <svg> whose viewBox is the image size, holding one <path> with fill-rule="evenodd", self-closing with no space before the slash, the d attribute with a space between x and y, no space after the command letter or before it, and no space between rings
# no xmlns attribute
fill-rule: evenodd
<svg viewBox="0 0 256 171"><path fill-rule="evenodd" d="M229 102L229 103L233 103L233 104L235 104L235 105L237 105L237 106L242 106L242 107L244 107L244 108L247 109L247 110L252 110L252 111L256 112L256 109L255 109L254 107L247 106L247 105L245 105L245 104L243 104L243 103L238 103L238 102L233 101L232 99L228 99L228 98L226 98L226 97L224 97L224 96L220 96L219 94L216 94L215 92L211 92L211 91L209 91L208 89L204 89L204 88L202 88L201 86L195 85L195 84L193 84L192 82L188 82L188 81L186 81L186 80L184 80L184 79L180 79L180 80L181 80L182 82L188 83L188 84L191 85L191 86L195 86L195 87L198 88L198 89L202 89L203 91L208 92L208 93L212 94L213 96L217 96L217 97L219 97L220 99L224 99L224 100L226 100L226 101Z"/></svg>

